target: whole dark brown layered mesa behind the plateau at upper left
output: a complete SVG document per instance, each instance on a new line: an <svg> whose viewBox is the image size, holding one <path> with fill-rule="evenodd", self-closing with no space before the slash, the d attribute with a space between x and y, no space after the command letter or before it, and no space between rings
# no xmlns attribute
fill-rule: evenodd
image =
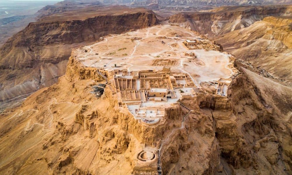
<svg viewBox="0 0 292 175"><path fill-rule="evenodd" d="M83 8L42 17L1 47L0 100L23 98L56 83L65 74L72 48L156 22L151 10L125 6Z"/></svg>

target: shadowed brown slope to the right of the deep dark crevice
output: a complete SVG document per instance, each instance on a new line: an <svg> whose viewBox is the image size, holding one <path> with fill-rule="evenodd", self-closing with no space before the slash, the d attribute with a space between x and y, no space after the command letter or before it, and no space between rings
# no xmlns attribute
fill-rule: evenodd
<svg viewBox="0 0 292 175"><path fill-rule="evenodd" d="M260 78L246 69L242 71L243 75L238 76L229 88L228 98L232 109L227 115L229 118L226 118L226 113L220 116L218 110L213 110L221 155L237 173L241 172L238 168L243 167L255 173L269 174L272 171L289 174L292 157L286 149L291 145L280 140L286 134L291 138L289 129L284 128L291 127L288 116L292 109L291 105L278 104L284 102L286 94L291 95L291 89ZM280 95L279 91L272 90L273 87L284 88L287 92ZM281 118L287 122L282 122ZM283 166L273 168L275 164Z"/></svg>

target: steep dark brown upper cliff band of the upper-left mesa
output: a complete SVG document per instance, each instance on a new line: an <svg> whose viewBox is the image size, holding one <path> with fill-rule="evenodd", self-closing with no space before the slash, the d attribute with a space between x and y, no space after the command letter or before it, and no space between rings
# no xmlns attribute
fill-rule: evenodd
<svg viewBox="0 0 292 175"><path fill-rule="evenodd" d="M46 18L45 18L46 19ZM141 29L156 23L154 13L138 12L121 15L98 15L84 20L31 22L24 30L9 39L1 48L1 56L13 47L27 47L34 52L36 46L56 43L73 44L96 41L100 36ZM14 65L11 65L14 66Z"/></svg>

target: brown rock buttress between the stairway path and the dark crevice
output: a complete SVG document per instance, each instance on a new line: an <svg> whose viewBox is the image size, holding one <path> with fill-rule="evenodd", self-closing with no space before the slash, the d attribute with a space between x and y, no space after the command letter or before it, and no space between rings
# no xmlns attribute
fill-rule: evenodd
<svg viewBox="0 0 292 175"><path fill-rule="evenodd" d="M212 117L199 111L191 113L185 128L173 134L161 153L163 173L215 174L220 147Z"/></svg>

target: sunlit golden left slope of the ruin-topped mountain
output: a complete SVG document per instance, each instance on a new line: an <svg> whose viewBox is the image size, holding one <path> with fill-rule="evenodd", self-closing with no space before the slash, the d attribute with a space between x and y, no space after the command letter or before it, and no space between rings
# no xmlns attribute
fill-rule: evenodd
<svg viewBox="0 0 292 175"><path fill-rule="evenodd" d="M166 109L167 122L148 127L119 107L109 85L100 99L92 96L91 86L103 80L96 71L72 55L58 83L29 96L20 111L1 113L0 172L131 174L138 153L178 127L180 106Z"/></svg>

